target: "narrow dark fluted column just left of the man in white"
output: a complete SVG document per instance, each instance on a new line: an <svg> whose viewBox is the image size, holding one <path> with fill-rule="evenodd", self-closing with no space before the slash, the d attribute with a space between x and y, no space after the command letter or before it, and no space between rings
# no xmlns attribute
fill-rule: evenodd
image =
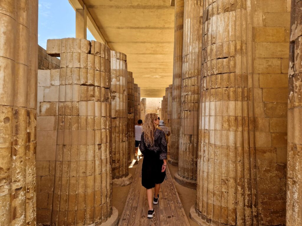
<svg viewBox="0 0 302 226"><path fill-rule="evenodd" d="M128 161L135 158L135 131L134 131L134 79L131 71L127 72L128 92Z"/></svg>

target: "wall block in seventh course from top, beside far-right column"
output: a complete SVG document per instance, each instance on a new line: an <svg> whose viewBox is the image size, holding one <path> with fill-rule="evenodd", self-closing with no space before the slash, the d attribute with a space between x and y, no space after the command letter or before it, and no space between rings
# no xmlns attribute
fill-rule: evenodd
<svg viewBox="0 0 302 226"><path fill-rule="evenodd" d="M288 89L287 88L263 88L264 102L287 102Z"/></svg>

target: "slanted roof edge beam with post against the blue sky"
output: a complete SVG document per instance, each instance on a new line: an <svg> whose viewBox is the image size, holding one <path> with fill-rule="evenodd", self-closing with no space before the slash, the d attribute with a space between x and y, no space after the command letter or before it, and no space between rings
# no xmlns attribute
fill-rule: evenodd
<svg viewBox="0 0 302 226"><path fill-rule="evenodd" d="M92 18L91 14L89 13L88 9L86 8L84 2L82 0L68 0L72 8L76 11L85 10L87 12L87 28L95 37L98 42L104 43L108 45L106 39L102 35L101 31L98 29L98 26L95 24L94 19ZM84 12L84 11L83 11ZM85 23L84 23L85 24ZM79 29L79 24L76 22L76 31ZM79 26L84 26L80 24ZM84 28L85 29L85 28ZM77 32L76 32L77 33ZM110 46L109 46L110 47Z"/></svg>

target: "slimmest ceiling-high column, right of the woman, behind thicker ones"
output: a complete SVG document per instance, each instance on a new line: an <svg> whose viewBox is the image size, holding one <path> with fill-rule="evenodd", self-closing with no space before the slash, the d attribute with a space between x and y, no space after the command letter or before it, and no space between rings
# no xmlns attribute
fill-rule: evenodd
<svg viewBox="0 0 302 226"><path fill-rule="evenodd" d="M182 89L182 40L184 0L175 0L174 62L172 84L171 148L168 161L178 165L180 101Z"/></svg>

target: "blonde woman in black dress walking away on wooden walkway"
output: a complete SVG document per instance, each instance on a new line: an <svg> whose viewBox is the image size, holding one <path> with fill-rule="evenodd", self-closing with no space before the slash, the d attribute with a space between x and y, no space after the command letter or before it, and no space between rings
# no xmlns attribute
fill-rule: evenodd
<svg viewBox="0 0 302 226"><path fill-rule="evenodd" d="M147 189L149 218L153 218L154 215L152 188L154 187L155 191L153 204L157 204L160 184L165 180L167 166L167 142L164 131L156 128L158 125L158 116L155 113L147 114L140 140L140 151L144 155L142 185Z"/></svg>

